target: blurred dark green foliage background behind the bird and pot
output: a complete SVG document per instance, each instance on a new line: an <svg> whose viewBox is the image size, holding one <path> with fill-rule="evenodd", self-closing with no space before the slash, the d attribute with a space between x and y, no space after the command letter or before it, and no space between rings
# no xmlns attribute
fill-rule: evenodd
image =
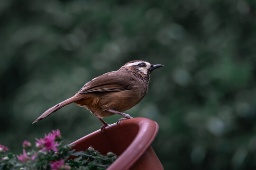
<svg viewBox="0 0 256 170"><path fill-rule="evenodd" d="M99 129L75 104L31 123L136 59L165 65L126 113L159 124L166 170L255 170L255 0L1 0L0 144L21 153L52 129L66 144Z"/></svg>

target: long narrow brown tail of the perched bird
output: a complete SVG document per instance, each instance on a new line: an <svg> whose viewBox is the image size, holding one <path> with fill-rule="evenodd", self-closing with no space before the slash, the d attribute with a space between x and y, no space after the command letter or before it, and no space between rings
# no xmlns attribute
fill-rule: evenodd
<svg viewBox="0 0 256 170"><path fill-rule="evenodd" d="M63 102L60 102L59 104L55 105L54 107L52 107L52 108L46 110L41 116L39 116L35 121L33 121L33 123L36 123L36 122L38 122L39 120L46 118L47 116L49 116L49 115L52 114L53 112L59 110L60 108L66 106L66 105L68 105L68 104L70 104L70 103L73 103L73 102L75 102L75 101L77 101L77 97L76 97L76 96L73 96L73 97L71 97L71 98L69 98L69 99L67 99L67 100L65 100L65 101L63 101Z"/></svg>

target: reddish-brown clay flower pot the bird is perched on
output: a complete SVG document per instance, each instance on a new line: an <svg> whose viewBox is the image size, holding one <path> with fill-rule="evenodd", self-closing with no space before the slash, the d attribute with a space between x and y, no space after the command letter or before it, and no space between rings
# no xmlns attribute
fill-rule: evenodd
<svg viewBox="0 0 256 170"><path fill-rule="evenodd" d="M150 144L155 139L158 124L146 118L127 119L97 130L73 142L73 149L85 151L91 145L101 154L116 153L119 158L107 170L163 170Z"/></svg>

